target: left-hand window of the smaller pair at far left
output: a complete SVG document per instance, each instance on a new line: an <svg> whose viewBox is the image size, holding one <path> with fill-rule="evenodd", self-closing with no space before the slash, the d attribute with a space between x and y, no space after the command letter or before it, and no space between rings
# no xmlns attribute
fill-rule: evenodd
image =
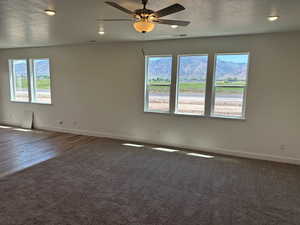
<svg viewBox="0 0 300 225"><path fill-rule="evenodd" d="M27 60L9 60L9 68L11 100L29 102Z"/></svg>

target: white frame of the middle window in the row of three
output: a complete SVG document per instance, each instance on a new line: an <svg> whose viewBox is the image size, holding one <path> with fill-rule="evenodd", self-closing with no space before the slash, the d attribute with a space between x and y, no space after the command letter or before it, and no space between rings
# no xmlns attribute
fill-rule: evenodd
<svg viewBox="0 0 300 225"><path fill-rule="evenodd" d="M203 114L196 114L196 113L181 113L178 112L178 94L179 94L179 71L180 71L180 57L181 56L206 56L207 57L207 68L206 68L206 82L205 82L205 93L204 93L204 113ZM190 116L199 116L199 117L205 117L205 108L207 104L207 77L209 76L208 70L209 70L209 54L179 54L177 55L177 69L176 69L176 98L175 98L175 112L176 115L190 115ZM172 85L172 84L171 84Z"/></svg>

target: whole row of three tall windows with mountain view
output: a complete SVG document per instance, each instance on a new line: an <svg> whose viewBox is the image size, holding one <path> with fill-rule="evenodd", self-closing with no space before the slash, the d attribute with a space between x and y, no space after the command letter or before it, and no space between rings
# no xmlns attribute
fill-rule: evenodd
<svg viewBox="0 0 300 225"><path fill-rule="evenodd" d="M211 61L208 54L146 56L145 112L244 119L249 53Z"/></svg>

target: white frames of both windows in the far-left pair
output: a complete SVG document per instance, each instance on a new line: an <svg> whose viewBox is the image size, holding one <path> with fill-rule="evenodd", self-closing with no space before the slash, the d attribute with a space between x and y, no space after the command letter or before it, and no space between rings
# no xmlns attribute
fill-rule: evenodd
<svg viewBox="0 0 300 225"><path fill-rule="evenodd" d="M50 96L51 96L51 103L47 102L36 102L33 98L34 87L34 70L33 70L33 61L39 60L39 59L47 59L49 61L49 73L50 73ZM13 68L13 61L14 60L25 60L27 64L27 80L28 80L28 101L20 101L15 99L15 90L16 90L16 82L15 82L15 76L14 76L14 68ZM51 76L51 60L49 57L40 57L40 58L13 58L8 60L8 66L9 66L9 91L10 91L10 101L14 103L31 103L31 104L42 104L42 105L52 105L52 76Z"/></svg>

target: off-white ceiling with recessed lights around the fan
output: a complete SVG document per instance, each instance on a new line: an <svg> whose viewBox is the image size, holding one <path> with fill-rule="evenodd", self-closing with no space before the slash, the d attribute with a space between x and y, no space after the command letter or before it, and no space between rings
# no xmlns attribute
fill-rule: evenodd
<svg viewBox="0 0 300 225"><path fill-rule="evenodd" d="M141 7L140 0L115 2L131 10ZM190 20L188 27L158 25L153 32L140 34L130 22L105 22L100 26L106 33L100 36L97 19L129 16L104 0L0 0L0 48L300 30L300 0L149 0L147 8L158 10L173 3L186 10L164 19ZM55 9L57 15L45 15L47 8ZM280 19L269 22L271 14Z"/></svg>

